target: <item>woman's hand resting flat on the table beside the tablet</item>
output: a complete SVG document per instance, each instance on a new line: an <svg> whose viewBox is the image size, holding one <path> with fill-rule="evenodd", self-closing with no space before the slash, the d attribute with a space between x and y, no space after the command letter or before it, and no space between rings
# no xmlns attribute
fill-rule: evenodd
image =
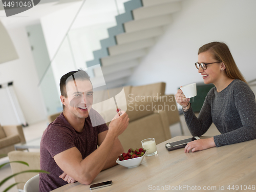
<svg viewBox="0 0 256 192"><path fill-rule="evenodd" d="M187 143L187 145L185 146L185 153L188 153L190 150L191 152L202 151L202 150L206 150L207 148L211 148L215 146L216 144L214 142L213 137L209 139L198 139L198 140Z"/></svg>

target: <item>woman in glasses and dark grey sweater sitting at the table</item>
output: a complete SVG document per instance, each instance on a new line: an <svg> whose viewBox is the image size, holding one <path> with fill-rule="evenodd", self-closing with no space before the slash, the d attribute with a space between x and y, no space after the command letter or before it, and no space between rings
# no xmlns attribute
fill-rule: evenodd
<svg viewBox="0 0 256 192"><path fill-rule="evenodd" d="M210 42L198 51L195 63L205 84L215 85L196 117L190 99L178 90L175 98L182 106L185 121L193 136L203 135L213 122L221 135L189 142L185 152L239 143L256 138L255 96L223 42Z"/></svg>

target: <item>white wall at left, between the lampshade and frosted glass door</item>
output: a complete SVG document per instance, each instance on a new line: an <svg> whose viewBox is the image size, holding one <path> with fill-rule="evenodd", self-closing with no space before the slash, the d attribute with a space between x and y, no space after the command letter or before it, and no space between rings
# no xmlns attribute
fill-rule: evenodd
<svg viewBox="0 0 256 192"><path fill-rule="evenodd" d="M39 80L26 29L19 27L7 29L7 31L19 58L0 65L0 84L13 81L20 107L29 124L46 119L46 109L37 87ZM15 114L13 116L15 117Z"/></svg>

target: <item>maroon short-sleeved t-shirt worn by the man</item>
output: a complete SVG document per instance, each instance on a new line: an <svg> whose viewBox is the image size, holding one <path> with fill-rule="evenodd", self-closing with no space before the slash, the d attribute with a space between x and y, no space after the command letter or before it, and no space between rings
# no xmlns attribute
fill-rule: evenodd
<svg viewBox="0 0 256 192"><path fill-rule="evenodd" d="M96 115L91 115L92 113L96 113ZM90 110L90 116L101 118L103 121L102 117L93 109ZM48 192L68 183L59 178L63 170L54 161L55 155L69 148L77 147L84 159L97 149L98 134L108 130L108 126L104 123L93 127L90 116L86 118L82 132L75 131L63 113L48 125L40 143L40 168L50 174L39 174L39 192Z"/></svg>

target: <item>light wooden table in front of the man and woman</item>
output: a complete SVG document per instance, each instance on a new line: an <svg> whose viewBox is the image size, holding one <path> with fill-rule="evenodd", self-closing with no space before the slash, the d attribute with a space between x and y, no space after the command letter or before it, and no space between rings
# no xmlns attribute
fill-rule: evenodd
<svg viewBox="0 0 256 192"><path fill-rule="evenodd" d="M185 138L178 136L158 144L158 154L145 157L138 167L116 165L102 171L92 184L112 180L113 185L92 191L256 190L256 140L194 153L184 153L184 148L166 150L165 143ZM89 187L76 182L53 191L90 191Z"/></svg>

